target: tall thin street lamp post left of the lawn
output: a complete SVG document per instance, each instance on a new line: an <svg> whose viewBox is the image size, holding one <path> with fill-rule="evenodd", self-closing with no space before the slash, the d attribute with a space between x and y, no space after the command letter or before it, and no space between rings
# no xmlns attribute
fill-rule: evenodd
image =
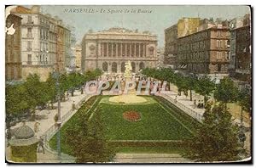
<svg viewBox="0 0 256 168"><path fill-rule="evenodd" d="M53 77L56 79L56 87L57 87L57 96L58 96L58 120L56 122L58 126L57 132L57 151L58 151L58 159L61 161L61 95L60 95L60 74L59 72L53 72Z"/></svg>

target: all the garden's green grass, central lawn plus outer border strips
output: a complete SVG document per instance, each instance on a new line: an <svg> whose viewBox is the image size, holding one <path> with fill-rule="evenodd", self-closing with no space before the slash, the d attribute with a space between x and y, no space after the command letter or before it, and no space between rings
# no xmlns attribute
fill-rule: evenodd
<svg viewBox="0 0 256 168"><path fill-rule="evenodd" d="M71 154L65 132L68 127L77 123L79 113L85 113L84 120L94 120L93 113L102 115L104 134L108 140L183 140L192 137L198 122L184 114L182 111L166 104L164 99L145 96L148 102L143 104L109 104L109 96L96 96L89 101L61 127L61 151ZM128 110L136 110L142 116L142 120L132 122L123 119L123 113ZM191 132L192 131L192 132ZM142 145L141 145L142 144ZM184 148L176 143L148 145L138 143L134 146L123 143L112 143L115 151L122 153L172 153L183 152ZM147 146L148 145L148 146ZM56 149L56 136L49 141L49 146Z"/></svg>

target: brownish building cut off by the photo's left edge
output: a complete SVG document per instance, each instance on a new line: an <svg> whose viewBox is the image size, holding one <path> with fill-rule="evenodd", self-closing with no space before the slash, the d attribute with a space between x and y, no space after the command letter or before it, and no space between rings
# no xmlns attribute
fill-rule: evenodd
<svg viewBox="0 0 256 168"><path fill-rule="evenodd" d="M20 59L20 16L9 14L6 20L6 27L15 29L15 33L5 34L5 79L21 79L21 59Z"/></svg>

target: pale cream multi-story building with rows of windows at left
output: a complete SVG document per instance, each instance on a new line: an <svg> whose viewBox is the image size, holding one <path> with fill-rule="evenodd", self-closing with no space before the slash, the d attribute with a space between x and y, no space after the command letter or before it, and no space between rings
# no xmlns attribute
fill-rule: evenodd
<svg viewBox="0 0 256 168"><path fill-rule="evenodd" d="M38 74L45 81L53 70L54 59L49 55L49 18L40 13L39 6L13 8L21 20L22 79Z"/></svg>

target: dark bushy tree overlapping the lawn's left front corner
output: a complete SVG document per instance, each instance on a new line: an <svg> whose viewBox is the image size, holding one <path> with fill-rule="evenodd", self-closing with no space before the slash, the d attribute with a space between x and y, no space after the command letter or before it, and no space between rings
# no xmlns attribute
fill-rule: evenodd
<svg viewBox="0 0 256 168"><path fill-rule="evenodd" d="M113 157L113 150L104 137L99 112L96 110L94 117L89 120L89 116L80 111L79 122L67 130L67 143L78 163L107 162Z"/></svg>

